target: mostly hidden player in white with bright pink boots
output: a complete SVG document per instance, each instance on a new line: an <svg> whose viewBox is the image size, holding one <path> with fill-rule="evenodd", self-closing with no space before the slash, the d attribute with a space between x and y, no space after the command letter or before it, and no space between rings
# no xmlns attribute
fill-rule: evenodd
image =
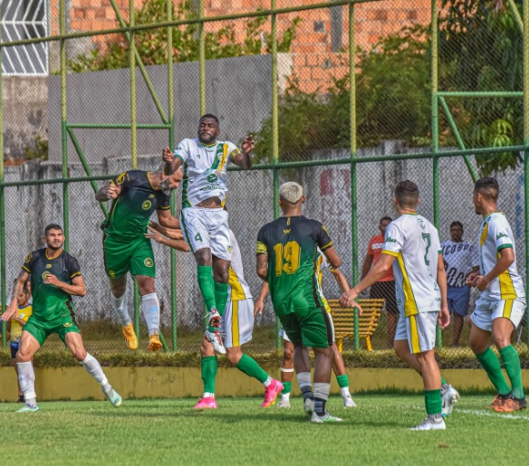
<svg viewBox="0 0 529 466"><path fill-rule="evenodd" d="M167 233L171 234L168 230ZM227 304L221 325L221 333L225 334L225 347L227 360L235 365L239 371L253 377L265 387L265 397L261 408L269 408L275 403L283 385L279 380L270 377L260 365L249 355L242 352L241 346L249 343L253 333L254 312L253 300L249 286L244 280L242 256L238 249L238 241L229 230L231 242L231 263L229 266L229 279L227 281ZM164 240L159 232L153 231L151 238L155 241L175 247ZM202 380L204 381L204 396L198 400L195 409L218 408L215 398L215 381L217 378L217 355L213 344L206 338L200 347L202 357Z"/></svg>

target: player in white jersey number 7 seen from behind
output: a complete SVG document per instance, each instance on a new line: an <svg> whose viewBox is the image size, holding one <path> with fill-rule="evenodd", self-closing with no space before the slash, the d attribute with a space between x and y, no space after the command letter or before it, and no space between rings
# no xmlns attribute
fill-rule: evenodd
<svg viewBox="0 0 529 466"><path fill-rule="evenodd" d="M434 355L437 323L442 329L450 323L439 235L437 229L417 213L419 199L415 183L409 180L398 183L394 203L400 217L386 228L380 259L362 281L342 295L340 304L360 308L354 301L356 297L393 267L400 312L395 351L422 375L428 413L428 417L412 430L446 429L442 416L441 375ZM445 387L445 391L451 406L459 394L450 386Z"/></svg>

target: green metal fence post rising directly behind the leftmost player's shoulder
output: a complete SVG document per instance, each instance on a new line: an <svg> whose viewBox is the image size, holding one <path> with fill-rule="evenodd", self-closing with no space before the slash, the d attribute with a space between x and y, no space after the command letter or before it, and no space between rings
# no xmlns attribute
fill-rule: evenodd
<svg viewBox="0 0 529 466"><path fill-rule="evenodd" d="M66 5L59 0L59 33L60 33L60 137L62 142L62 222L64 228L64 249L69 250L69 202L68 202L68 134L66 130Z"/></svg>

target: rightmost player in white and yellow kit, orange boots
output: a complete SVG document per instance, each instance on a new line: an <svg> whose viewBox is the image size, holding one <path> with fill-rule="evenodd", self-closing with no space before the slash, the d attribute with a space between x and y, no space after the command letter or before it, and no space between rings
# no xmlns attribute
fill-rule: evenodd
<svg viewBox="0 0 529 466"><path fill-rule="evenodd" d="M498 212L499 192L498 182L492 177L481 178L474 185L474 207L483 217L478 238L480 270L471 273L467 284L475 286L481 295L471 313L469 343L498 393L490 408L510 413L527 408L520 358L511 344L513 330L524 317L525 290L516 267L513 231L505 215ZM491 334L511 387L489 346Z"/></svg>

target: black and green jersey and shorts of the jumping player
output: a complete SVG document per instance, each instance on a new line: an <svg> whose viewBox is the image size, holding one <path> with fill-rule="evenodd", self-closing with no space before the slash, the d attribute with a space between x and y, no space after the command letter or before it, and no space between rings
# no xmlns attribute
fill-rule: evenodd
<svg viewBox="0 0 529 466"><path fill-rule="evenodd" d="M171 204L169 196L153 188L150 173L131 170L111 181L122 188L104 225L105 270L111 279L128 271L155 277L153 248L145 234L154 210L168 210Z"/></svg>

